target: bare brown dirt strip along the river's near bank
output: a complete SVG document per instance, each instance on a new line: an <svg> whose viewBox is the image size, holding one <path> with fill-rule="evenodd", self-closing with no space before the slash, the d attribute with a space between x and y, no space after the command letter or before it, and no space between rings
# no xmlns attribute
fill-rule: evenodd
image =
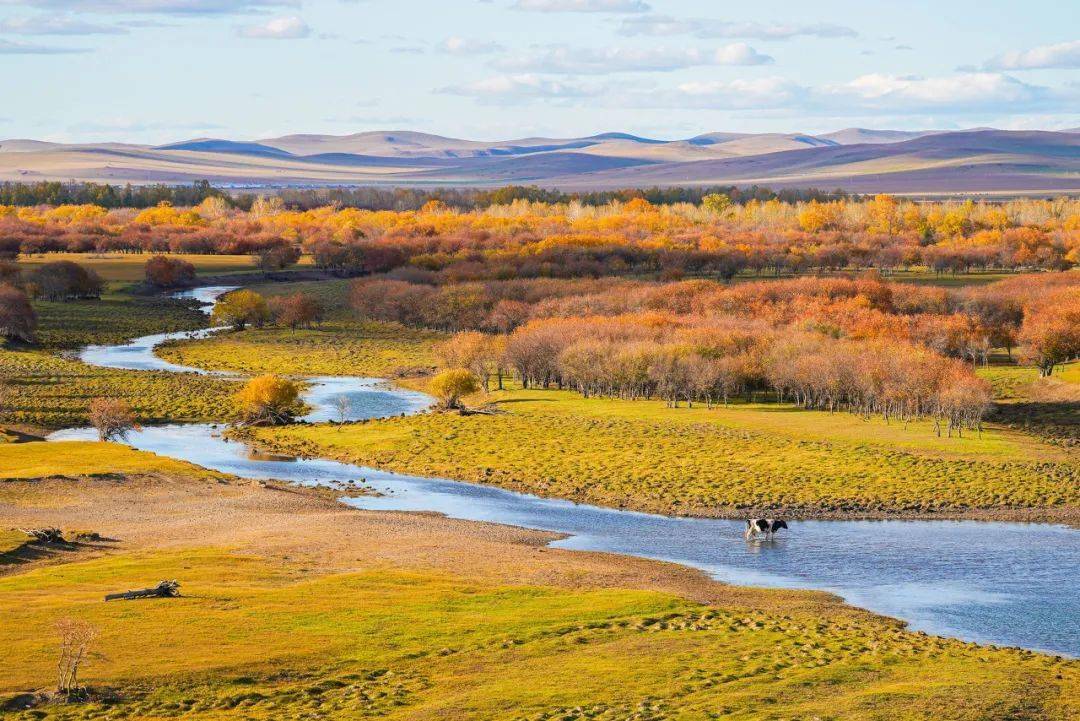
<svg viewBox="0 0 1080 721"><path fill-rule="evenodd" d="M273 481L127 476L0 486L0 528L30 526L94 529L118 541L81 544L71 556L27 559L18 570L93 554L216 545L302 564L312 573L435 570L508 584L662 590L725 606L793 610L840 603L825 594L727 586L674 563L548 547L556 533L359 511L326 489Z"/></svg>

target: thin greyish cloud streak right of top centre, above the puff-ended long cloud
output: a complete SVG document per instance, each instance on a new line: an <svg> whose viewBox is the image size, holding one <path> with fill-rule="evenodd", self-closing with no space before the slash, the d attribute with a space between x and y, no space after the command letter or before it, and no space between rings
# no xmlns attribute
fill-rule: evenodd
<svg viewBox="0 0 1080 721"><path fill-rule="evenodd" d="M858 32L832 23L729 23L702 17L644 15L622 21L619 32L625 36L669 37L689 35L696 38L754 38L791 40L799 36L815 38L855 38Z"/></svg>

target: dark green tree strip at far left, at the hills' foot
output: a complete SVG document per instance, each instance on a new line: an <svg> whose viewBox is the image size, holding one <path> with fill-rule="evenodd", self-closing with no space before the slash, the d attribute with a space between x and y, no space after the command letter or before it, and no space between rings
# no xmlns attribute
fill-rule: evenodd
<svg viewBox="0 0 1080 721"><path fill-rule="evenodd" d="M0 183L0 205L96 205L103 208L148 208L161 203L199 205L207 198L227 198L225 191L199 180L190 186L110 186L102 182Z"/></svg>

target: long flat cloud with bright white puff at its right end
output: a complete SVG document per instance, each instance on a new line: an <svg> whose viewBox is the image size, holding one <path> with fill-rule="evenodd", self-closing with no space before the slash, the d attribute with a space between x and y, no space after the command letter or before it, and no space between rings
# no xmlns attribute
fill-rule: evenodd
<svg viewBox="0 0 1080 721"><path fill-rule="evenodd" d="M732 43L714 51L667 47L568 47L549 45L524 55L500 58L492 67L511 72L557 74L607 74L656 72L715 65L766 65L772 58L746 43Z"/></svg>

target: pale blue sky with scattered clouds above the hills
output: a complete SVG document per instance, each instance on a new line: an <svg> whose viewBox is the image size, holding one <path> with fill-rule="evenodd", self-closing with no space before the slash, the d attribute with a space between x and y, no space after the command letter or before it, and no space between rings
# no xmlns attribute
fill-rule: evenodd
<svg viewBox="0 0 1080 721"><path fill-rule="evenodd" d="M1080 2L0 0L0 138L1080 126Z"/></svg>

